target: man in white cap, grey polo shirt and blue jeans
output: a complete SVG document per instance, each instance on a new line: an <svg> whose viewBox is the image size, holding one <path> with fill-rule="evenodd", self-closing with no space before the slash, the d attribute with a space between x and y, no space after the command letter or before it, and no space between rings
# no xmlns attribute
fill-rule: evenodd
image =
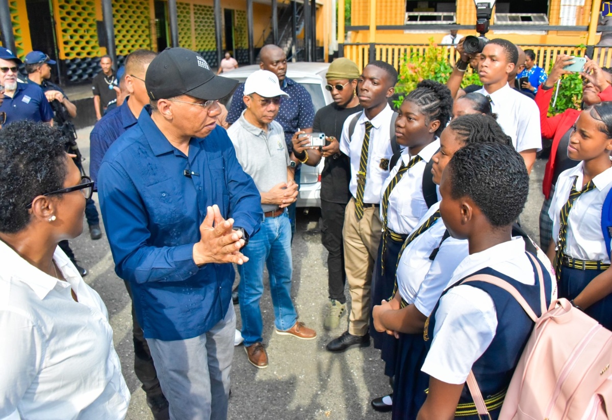
<svg viewBox="0 0 612 420"><path fill-rule="evenodd" d="M247 109L228 129L238 161L259 190L264 211L261 229L241 250L248 256L248 264L238 266L242 336L248 361L256 368L266 368L268 364L259 309L264 290L264 264L270 276L276 333L300 339L316 337L314 330L297 322L290 295L291 224L286 207L297 199L297 184L293 179L295 164L289 159L283 128L274 121L283 96L289 95L280 89L276 74L255 71L244 84L243 100Z"/></svg>

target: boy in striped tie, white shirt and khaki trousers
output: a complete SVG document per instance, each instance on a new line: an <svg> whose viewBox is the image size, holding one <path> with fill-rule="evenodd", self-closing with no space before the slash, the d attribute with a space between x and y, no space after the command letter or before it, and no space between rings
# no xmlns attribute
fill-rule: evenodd
<svg viewBox="0 0 612 420"><path fill-rule="evenodd" d="M346 280L351 293L348 330L327 344L340 352L351 346L370 345L370 286L383 226L379 219L381 189L389 176L392 155L389 126L394 115L387 103L397 83L397 71L383 61L370 62L357 82L359 103L364 107L349 139L346 118L340 150L351 161L351 200L346 205L343 228Z"/></svg>

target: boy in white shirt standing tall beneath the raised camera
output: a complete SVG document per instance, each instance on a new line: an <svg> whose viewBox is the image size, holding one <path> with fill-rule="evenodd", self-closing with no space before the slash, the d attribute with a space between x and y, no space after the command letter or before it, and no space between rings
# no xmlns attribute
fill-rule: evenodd
<svg viewBox="0 0 612 420"><path fill-rule="evenodd" d="M517 47L510 41L496 38L490 40L480 54L478 74L483 84L476 92L488 96L491 109L504 132L512 137L512 143L523 156L527 172L535 162L535 153L542 150L540 114L534 101L508 84L518 61Z"/></svg>

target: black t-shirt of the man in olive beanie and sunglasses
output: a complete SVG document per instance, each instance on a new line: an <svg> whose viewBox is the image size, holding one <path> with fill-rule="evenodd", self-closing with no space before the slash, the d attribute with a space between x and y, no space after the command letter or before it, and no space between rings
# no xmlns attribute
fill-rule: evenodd
<svg viewBox="0 0 612 420"><path fill-rule="evenodd" d="M340 141L342 126L346 118L364 108L357 105L353 108L339 108L336 103L319 109L312 125L313 132L324 132L327 137L333 136ZM346 204L351 199L348 184L351 181L351 162L343 153L325 159L321 173L321 200L330 203Z"/></svg>

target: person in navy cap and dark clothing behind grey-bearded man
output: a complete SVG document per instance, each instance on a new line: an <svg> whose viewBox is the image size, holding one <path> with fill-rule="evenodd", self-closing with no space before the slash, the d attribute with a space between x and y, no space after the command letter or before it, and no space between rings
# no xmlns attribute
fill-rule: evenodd
<svg viewBox="0 0 612 420"><path fill-rule="evenodd" d="M73 158L76 167L78 167L81 173L84 173L81 163L81 152L76 145L75 127L72 122L70 122L70 118L76 117L76 106L70 102L61 87L50 81L51 65L55 63L56 62L51 60L47 54L40 51L28 53L24 60L26 71L28 72L27 82L28 84L39 86L43 92L45 92L51 109L53 109L53 123L57 125L58 128L61 129L62 134L64 134L65 149L68 153L76 155L76 157ZM91 198L86 200L85 215L87 217L91 239L100 239L100 237L102 237L100 219L98 211L95 208L94 200ZM68 241L61 241L60 246L75 264L81 276L87 275L87 270L76 264L74 253L70 249Z"/></svg>

